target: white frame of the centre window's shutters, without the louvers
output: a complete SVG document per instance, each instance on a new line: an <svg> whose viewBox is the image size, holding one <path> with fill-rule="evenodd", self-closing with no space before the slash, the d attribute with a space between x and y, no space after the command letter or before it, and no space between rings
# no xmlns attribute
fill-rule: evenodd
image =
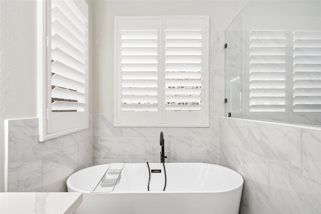
<svg viewBox="0 0 321 214"><path fill-rule="evenodd" d="M186 116L189 117L199 117L200 114L195 114L195 112L170 112L167 116L165 116L165 106L162 108L162 113L158 114L156 116L151 115L149 121L139 123L139 118L148 118L150 113L153 112L136 112L137 114L134 115L134 120L137 120L137 123L124 123L122 122L121 117L124 117L124 115L121 113L121 102L120 100L120 72L119 71L119 59L118 59L118 52L119 50L119 42L120 38L118 35L118 21L124 20L124 19L203 19L205 20L205 38L202 39L205 41L205 47L204 50L202 50L202 55L205 53L206 62L202 62L202 69L204 68L204 76L202 76L202 108L203 113L202 117L204 117L202 120L199 120L201 122L198 123L191 123L191 120L185 120ZM162 22L162 21L161 21ZM165 43L165 29L164 26L161 24L161 27L158 29L159 33L162 34L161 41L158 41L158 45L161 43ZM165 45L162 44L159 46L161 49L164 49ZM158 66L158 74L157 74L157 87L161 89L157 89L157 94L160 90L165 91L164 81L165 81L165 51L161 51L158 54L161 58L161 62L157 63ZM158 56L158 55L157 55ZM158 56L158 59L159 59ZM159 66L161 64L161 66ZM165 92L164 94L161 94L162 97L165 98ZM204 93L204 94L203 94ZM159 96L159 95L157 95ZM165 100L162 98L162 103L165 103ZM160 106L162 104L158 103L157 109L159 110ZM157 111L158 111L157 110ZM125 112L126 113L126 112ZM171 115L179 115L180 114L180 121L172 121L171 123L165 123L166 120L170 121ZM127 115L127 114L126 114ZM125 116L126 117L126 116ZM167 117L167 119L165 118ZM153 118L156 118L157 121L153 121ZM119 16L114 17L114 126L115 127L209 127L209 16Z"/></svg>

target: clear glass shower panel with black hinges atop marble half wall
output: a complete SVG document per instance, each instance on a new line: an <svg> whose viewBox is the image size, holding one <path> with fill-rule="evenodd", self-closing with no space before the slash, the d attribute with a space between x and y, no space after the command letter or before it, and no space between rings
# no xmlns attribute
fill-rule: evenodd
<svg viewBox="0 0 321 214"><path fill-rule="evenodd" d="M251 1L225 40L226 116L321 126L321 1Z"/></svg>

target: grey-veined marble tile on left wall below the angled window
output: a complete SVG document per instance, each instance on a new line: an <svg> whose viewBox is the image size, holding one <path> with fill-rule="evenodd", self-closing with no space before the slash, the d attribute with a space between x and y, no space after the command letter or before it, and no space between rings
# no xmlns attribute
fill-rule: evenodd
<svg viewBox="0 0 321 214"><path fill-rule="evenodd" d="M8 191L66 191L73 172L93 165L93 116L89 128L38 141L38 118L8 120Z"/></svg>

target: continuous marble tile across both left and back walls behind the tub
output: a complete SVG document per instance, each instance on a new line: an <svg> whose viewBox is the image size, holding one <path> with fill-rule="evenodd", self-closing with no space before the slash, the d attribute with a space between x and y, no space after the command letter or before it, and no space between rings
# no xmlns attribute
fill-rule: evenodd
<svg viewBox="0 0 321 214"><path fill-rule="evenodd" d="M94 114L89 129L39 142L37 118L8 120L8 191L66 191L67 178L93 164L158 162L161 131L167 161L219 163L214 130L214 116L209 128L115 128L112 114Z"/></svg>

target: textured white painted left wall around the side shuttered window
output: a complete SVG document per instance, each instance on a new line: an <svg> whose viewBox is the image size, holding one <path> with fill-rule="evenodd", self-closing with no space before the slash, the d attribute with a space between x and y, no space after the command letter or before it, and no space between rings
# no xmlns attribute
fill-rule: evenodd
<svg viewBox="0 0 321 214"><path fill-rule="evenodd" d="M91 2L89 2L91 6ZM91 29L90 29L91 30ZM90 33L89 33L90 34ZM91 40L91 39L90 39ZM92 41L92 40L91 40ZM90 43L91 46L92 42ZM92 52L92 46L90 54ZM0 1L0 191L4 120L37 117L37 1ZM92 54L91 54L92 56ZM89 62L91 64L91 61ZM90 70L91 67L90 67ZM91 76L89 77L92 80ZM92 82L90 82L92 85ZM90 85L90 87L91 87ZM92 91L92 90L90 90ZM91 92L92 94L92 92ZM92 109L92 100L89 100Z"/></svg>

